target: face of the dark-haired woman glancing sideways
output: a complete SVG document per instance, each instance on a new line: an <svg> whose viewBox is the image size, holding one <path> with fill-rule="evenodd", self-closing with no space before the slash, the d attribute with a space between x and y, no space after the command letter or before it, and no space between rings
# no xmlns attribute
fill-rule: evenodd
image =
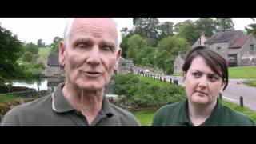
<svg viewBox="0 0 256 144"><path fill-rule="evenodd" d="M187 72L183 72L183 79L188 100L195 104L210 105L225 86L222 78L200 56L194 58Z"/></svg>

